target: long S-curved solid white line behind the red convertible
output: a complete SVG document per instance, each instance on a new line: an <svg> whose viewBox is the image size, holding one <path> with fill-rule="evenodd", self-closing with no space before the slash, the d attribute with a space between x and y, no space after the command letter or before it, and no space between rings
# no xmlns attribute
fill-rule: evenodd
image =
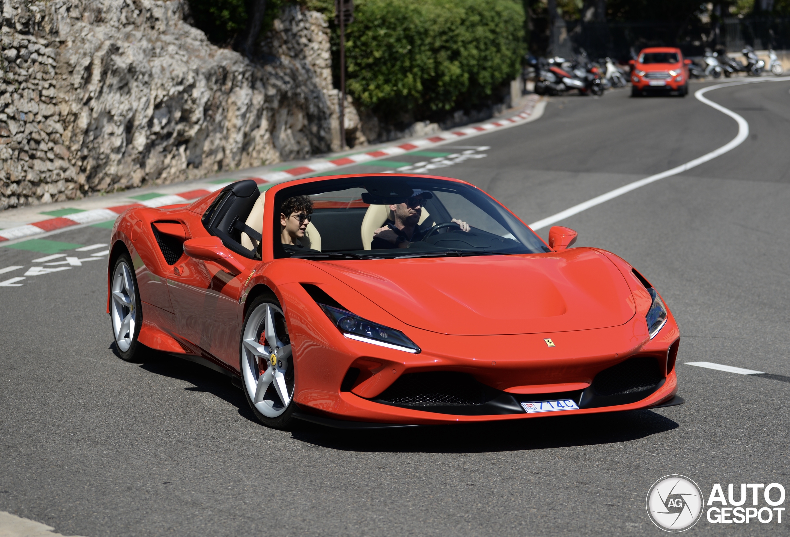
<svg viewBox="0 0 790 537"><path fill-rule="evenodd" d="M708 100L704 97L705 93L713 91L714 89L719 88L728 88L729 86L737 86L741 84L754 84L756 82L781 82L781 81L790 81L790 77L781 77L781 78L764 78L761 80L754 80L754 81L738 81L738 82L729 82L725 84L716 84L713 86L709 86L707 88L698 89L694 92L694 97L697 100L701 101L702 103L707 104L709 107L715 108L717 111L720 111L723 114L730 116L731 118L735 119L738 122L738 134L731 141L727 144L722 145L720 148L716 149L715 151L706 153L705 155L690 160L685 164L681 164L678 167L673 167L672 170L662 171L660 174L651 175L650 177L646 177L644 179L640 179L639 181L634 181L626 186L621 186L615 190L611 190L605 194L601 194L600 196L593 197L592 200L585 201L584 203L580 203L579 205L574 205L571 208L566 208L562 212L558 212L555 215L551 215L543 220L538 220L537 222L533 222L529 224L529 227L532 227L533 231L537 231L543 227L551 225L552 223L559 222L560 220L565 220L569 216L574 216L579 212L586 211L591 207L595 207L596 205L600 205L604 203L604 201L609 201L614 199L615 197L622 196L624 193L628 193L631 190L637 190L641 186L649 185L651 182L656 182L659 179L671 177L672 175L678 175L683 173L683 171L690 170L693 167L699 166L702 163L706 163L709 160L715 159L717 156L724 155L724 153L731 151L732 149L738 147L743 143L744 140L747 139L749 136L749 123L746 119L742 118L741 116L735 114L732 110L728 108L724 108L720 104L714 103L712 100Z"/></svg>

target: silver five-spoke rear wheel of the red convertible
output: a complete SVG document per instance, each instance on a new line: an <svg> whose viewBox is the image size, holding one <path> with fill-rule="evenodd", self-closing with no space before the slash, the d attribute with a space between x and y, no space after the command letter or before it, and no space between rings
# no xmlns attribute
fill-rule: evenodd
<svg viewBox="0 0 790 537"><path fill-rule="evenodd" d="M137 361L145 348L137 340L143 325L143 308L134 265L126 252L118 256L112 268L110 320L118 355L126 362Z"/></svg>

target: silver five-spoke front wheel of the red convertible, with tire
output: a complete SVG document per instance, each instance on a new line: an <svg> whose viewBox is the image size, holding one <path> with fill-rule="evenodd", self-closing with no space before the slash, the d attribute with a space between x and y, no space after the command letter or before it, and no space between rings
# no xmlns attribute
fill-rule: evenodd
<svg viewBox="0 0 790 537"><path fill-rule="evenodd" d="M247 308L239 357L242 389L255 418L273 429L288 429L297 408L293 400L295 360L276 296L258 296Z"/></svg>

